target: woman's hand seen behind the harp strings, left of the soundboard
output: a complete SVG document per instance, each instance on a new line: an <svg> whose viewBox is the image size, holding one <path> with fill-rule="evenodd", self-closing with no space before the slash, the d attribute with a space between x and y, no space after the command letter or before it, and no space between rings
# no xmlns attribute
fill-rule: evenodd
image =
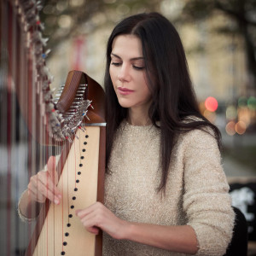
<svg viewBox="0 0 256 256"><path fill-rule="evenodd" d="M27 185L27 193L32 201L44 203L45 199L60 203L61 193L56 187L58 175L55 168L55 156L50 156L47 163L47 171L40 171L30 178Z"/></svg>

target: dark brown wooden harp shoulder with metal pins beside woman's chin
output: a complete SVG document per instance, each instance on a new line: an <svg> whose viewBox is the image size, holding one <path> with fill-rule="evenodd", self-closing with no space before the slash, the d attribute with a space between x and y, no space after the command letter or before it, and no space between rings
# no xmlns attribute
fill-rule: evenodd
<svg viewBox="0 0 256 256"><path fill-rule="evenodd" d="M60 129L53 134L55 141L70 139L82 121L87 124L105 123L104 105L105 96L100 84L81 71L69 72L55 104L63 117Z"/></svg>

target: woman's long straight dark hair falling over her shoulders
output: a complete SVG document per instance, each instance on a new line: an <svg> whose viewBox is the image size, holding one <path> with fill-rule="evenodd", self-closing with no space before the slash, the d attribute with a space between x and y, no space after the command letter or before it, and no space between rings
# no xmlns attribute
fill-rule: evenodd
<svg viewBox="0 0 256 256"><path fill-rule="evenodd" d="M158 13L132 15L114 27L108 39L105 90L107 96L107 166L113 146L113 137L126 118L127 108L119 105L109 75L113 39L132 34L141 39L148 88L152 103L148 116L160 128L161 182L158 190L164 191L177 135L193 129L210 126L220 146L220 132L205 119L198 108L195 92L189 77L189 68L183 44L172 23ZM191 119L191 117L199 119ZM184 122L184 119L189 119ZM157 122L160 121L160 127Z"/></svg>

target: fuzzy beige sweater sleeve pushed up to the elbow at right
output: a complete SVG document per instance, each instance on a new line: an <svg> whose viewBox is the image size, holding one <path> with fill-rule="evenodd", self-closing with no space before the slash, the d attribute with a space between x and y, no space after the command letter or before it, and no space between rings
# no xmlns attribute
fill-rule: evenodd
<svg viewBox="0 0 256 256"><path fill-rule="evenodd" d="M183 209L197 237L196 255L224 255L235 214L218 145L205 131L190 131L185 137Z"/></svg>

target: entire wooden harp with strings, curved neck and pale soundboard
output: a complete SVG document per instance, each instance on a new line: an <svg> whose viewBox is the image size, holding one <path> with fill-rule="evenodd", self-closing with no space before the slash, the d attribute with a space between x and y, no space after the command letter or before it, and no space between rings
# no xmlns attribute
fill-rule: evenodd
<svg viewBox="0 0 256 256"><path fill-rule="evenodd" d="M27 255L100 255L101 236L90 236L86 248L79 249L79 244L84 244L84 239L80 242L84 230L79 233L79 238L74 238L73 229L79 224L74 221L75 216L70 217L70 214L76 208L84 207L85 203L103 200L104 93L101 86L88 75L73 71L67 76L60 99L54 102L49 87L52 76L45 64L49 49L46 49L47 38L42 33L44 24L38 15L40 9L42 3L39 0L0 1L0 205L3 207L0 217L3 219L1 233L4 234L0 239L0 254L23 255L26 249ZM80 93L82 99L77 101ZM89 107L87 100L92 101L94 109ZM77 111L72 112L72 109ZM85 117L86 111L90 120ZM81 119L82 115L84 118ZM65 196L61 208L46 201L32 232L32 224L23 225L16 212L20 194L26 188L27 179L41 170L49 155L55 154L59 148L62 148L57 167L59 186ZM90 165L94 165L94 168ZM89 169L87 174L90 177L84 178ZM69 175L71 170L76 171L72 178ZM84 192L86 187L91 189L90 192ZM91 201L83 200L80 195L88 196ZM59 233L63 241L56 241L55 236L51 235L60 231L59 225L53 224L55 220L49 220L51 212L55 215L58 211L61 217L56 221L63 219ZM67 224L70 226L67 227ZM49 233L53 226L53 231ZM69 236L65 236L67 232ZM27 237L32 237L30 242L26 240ZM42 237L46 238L43 243ZM70 249L72 240L76 241L75 248ZM49 250L49 241L54 241L54 253ZM73 250L72 253L70 250Z"/></svg>

